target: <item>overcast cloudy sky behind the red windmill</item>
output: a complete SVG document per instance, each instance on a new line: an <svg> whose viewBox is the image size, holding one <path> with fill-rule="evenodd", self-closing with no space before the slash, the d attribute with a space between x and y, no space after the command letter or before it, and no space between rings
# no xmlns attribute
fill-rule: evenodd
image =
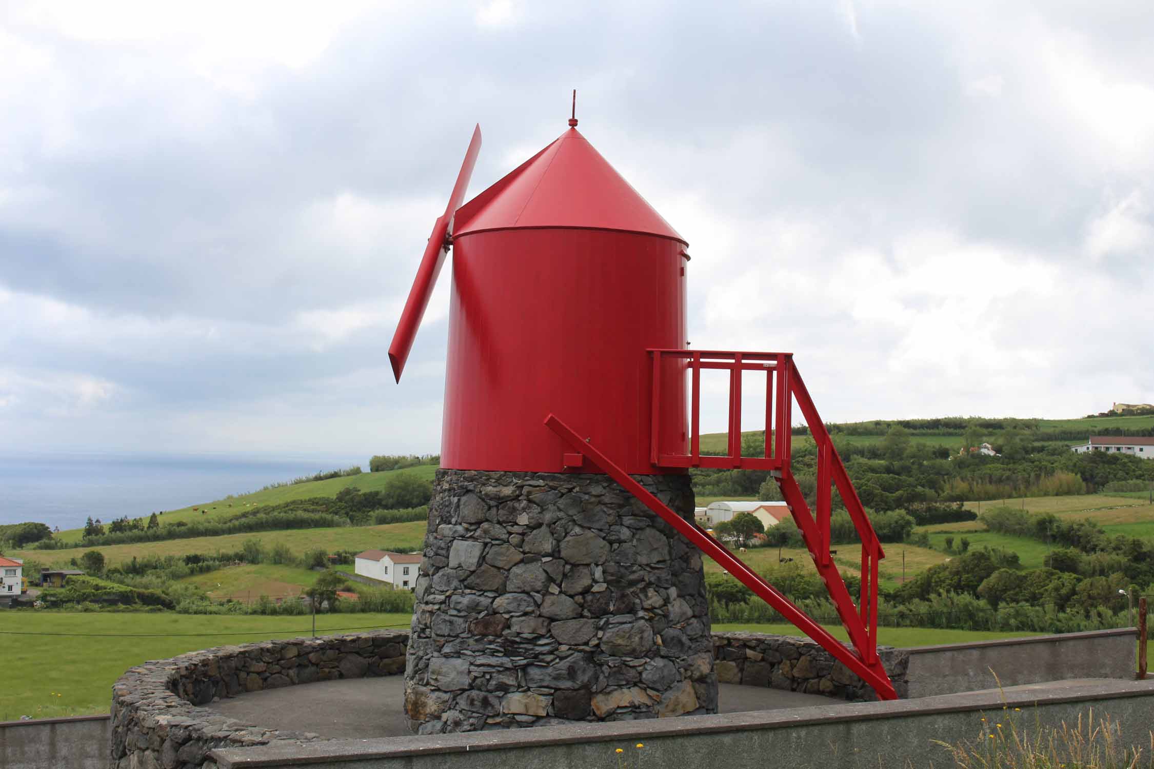
<svg viewBox="0 0 1154 769"><path fill-rule="evenodd" d="M437 451L445 280L397 385L399 308L473 125L470 196L572 88L694 346L827 421L1154 401L1148 2L13 2L0 448Z"/></svg>

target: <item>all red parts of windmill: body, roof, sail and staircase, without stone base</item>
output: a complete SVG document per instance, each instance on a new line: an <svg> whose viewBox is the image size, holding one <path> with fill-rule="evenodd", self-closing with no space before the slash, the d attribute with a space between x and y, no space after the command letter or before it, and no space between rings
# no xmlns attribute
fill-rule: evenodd
<svg viewBox="0 0 1154 769"><path fill-rule="evenodd" d="M452 247L442 467L608 474L878 696L894 699L877 655L882 546L792 354L688 349L685 240L577 131L576 119L569 125L556 141L462 205L480 150L478 127L449 205L429 236L389 359L399 382ZM729 372L724 455L703 455L699 448L703 369ZM757 425L766 436L760 457L741 455L745 371L765 375L765 423ZM790 472L794 401L817 444L814 512ZM772 473L853 648L630 477L690 467ZM832 484L862 542L856 603L830 553Z"/></svg>

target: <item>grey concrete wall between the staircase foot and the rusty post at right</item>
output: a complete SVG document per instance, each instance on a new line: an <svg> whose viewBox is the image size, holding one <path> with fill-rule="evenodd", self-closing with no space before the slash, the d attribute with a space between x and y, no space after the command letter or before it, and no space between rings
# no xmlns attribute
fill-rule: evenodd
<svg viewBox="0 0 1154 769"><path fill-rule="evenodd" d="M1073 678L1134 677L1134 628L907 649L909 698ZM991 672L992 671L992 672ZM997 678L995 678L997 674Z"/></svg>

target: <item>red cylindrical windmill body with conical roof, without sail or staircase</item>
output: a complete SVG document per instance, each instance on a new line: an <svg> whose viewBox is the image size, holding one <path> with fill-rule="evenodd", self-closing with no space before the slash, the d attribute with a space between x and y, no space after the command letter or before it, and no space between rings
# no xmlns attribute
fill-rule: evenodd
<svg viewBox="0 0 1154 769"><path fill-rule="evenodd" d="M627 472L662 472L646 349L687 344L681 235L570 128L457 212L452 248L441 466L561 472L554 412ZM679 363L660 453L685 453Z"/></svg>

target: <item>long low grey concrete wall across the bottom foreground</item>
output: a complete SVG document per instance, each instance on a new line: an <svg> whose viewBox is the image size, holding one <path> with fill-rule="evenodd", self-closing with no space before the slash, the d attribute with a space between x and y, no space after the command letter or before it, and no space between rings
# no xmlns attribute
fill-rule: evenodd
<svg viewBox="0 0 1154 769"><path fill-rule="evenodd" d="M1021 708L1014 711L1013 708ZM1003 709L1005 708L1005 710ZM726 769L877 769L949 767L936 742L977 741L986 723L1016 718L1024 729L1085 721L1093 708L1121 724L1121 744L1147 747L1154 723L1151 681L1039 685L998 692L892 702L682 716L650 721L545 726L482 733L336 740L292 746L218 749L219 769L509 769L628 766ZM640 742L643 748L635 746ZM638 759L640 761L638 762ZM908 762L908 764L907 764Z"/></svg>

